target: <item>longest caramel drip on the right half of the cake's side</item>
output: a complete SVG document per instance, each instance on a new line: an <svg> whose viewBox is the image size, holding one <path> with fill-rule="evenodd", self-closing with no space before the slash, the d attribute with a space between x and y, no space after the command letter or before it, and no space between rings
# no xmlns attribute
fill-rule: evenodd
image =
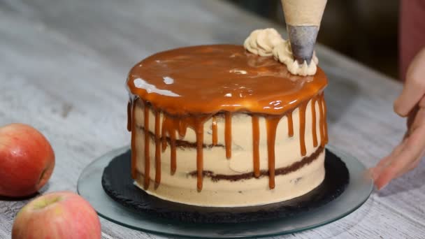
<svg viewBox="0 0 425 239"><path fill-rule="evenodd" d="M280 116L267 116L268 187L275 188L275 140Z"/></svg>

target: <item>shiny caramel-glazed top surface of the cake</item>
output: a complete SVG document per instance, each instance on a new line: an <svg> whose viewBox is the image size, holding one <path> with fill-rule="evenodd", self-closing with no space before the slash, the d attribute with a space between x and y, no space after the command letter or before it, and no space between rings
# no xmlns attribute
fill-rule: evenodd
<svg viewBox="0 0 425 239"><path fill-rule="evenodd" d="M241 45L199 45L159 52L131 68L129 93L171 115L219 111L282 115L322 92L321 68L292 75L273 57Z"/></svg>

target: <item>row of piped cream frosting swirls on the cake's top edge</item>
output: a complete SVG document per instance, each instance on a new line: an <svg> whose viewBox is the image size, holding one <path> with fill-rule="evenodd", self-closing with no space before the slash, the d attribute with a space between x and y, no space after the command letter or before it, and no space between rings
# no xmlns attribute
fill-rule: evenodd
<svg viewBox="0 0 425 239"><path fill-rule="evenodd" d="M252 31L243 44L245 49L262 57L273 57L285 64L288 71L294 75L315 75L317 71L317 59L315 52L310 64L304 61L298 64L292 55L291 44L285 41L282 36L273 28L257 29Z"/></svg>

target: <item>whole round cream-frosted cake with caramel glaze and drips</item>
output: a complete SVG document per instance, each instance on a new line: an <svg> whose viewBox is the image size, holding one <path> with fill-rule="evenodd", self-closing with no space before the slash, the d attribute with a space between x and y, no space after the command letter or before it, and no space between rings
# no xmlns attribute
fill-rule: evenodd
<svg viewBox="0 0 425 239"><path fill-rule="evenodd" d="M131 68L136 186L205 207L264 205L315 189L325 175L326 75L319 67L293 75L275 58L199 45Z"/></svg>

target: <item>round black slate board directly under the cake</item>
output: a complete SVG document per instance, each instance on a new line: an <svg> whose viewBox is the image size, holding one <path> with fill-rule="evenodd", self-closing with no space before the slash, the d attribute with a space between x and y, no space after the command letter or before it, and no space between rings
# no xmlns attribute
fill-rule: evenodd
<svg viewBox="0 0 425 239"><path fill-rule="evenodd" d="M257 222L318 208L340 196L350 180L345 163L326 150L326 175L322 184L308 194L280 203L243 208L206 208L164 201L150 196L133 184L130 176L131 152L118 155L103 171L102 186L111 198L141 213L193 223Z"/></svg>

